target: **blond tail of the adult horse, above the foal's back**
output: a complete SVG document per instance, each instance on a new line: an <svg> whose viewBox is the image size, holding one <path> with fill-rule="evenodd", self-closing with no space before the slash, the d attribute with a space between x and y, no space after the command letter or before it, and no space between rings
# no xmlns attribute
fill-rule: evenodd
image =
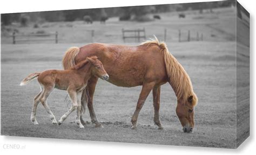
<svg viewBox="0 0 256 155"><path fill-rule="evenodd" d="M72 47L66 51L66 53L62 59L62 65L65 70L70 69L76 65L75 58L76 58L77 54L79 53L79 51L80 51L80 48L78 48L78 47Z"/></svg>

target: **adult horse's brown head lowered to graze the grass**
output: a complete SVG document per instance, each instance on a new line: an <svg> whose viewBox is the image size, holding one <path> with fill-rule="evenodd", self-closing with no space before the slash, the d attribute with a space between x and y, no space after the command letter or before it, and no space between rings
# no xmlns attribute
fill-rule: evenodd
<svg viewBox="0 0 256 155"><path fill-rule="evenodd" d="M176 113L184 132L192 132L194 128L194 106L198 102L197 96L189 96L186 100L178 99Z"/></svg>

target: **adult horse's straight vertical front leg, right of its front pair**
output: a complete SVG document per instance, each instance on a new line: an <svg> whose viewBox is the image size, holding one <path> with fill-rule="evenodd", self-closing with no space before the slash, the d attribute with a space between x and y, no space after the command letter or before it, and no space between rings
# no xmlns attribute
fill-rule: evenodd
<svg viewBox="0 0 256 155"><path fill-rule="evenodd" d="M158 126L158 129L163 129L159 119L160 90L161 90L161 86L153 88L154 124Z"/></svg>

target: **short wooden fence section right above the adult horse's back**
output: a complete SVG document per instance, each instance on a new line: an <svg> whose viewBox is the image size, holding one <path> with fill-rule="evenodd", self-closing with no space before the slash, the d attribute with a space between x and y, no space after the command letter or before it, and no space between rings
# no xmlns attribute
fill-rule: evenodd
<svg viewBox="0 0 256 155"><path fill-rule="evenodd" d="M140 38L146 39L146 31L143 29L134 29L134 30L124 30L122 29L123 40L125 42L126 38L135 38L135 41L140 42ZM127 35L129 33L130 35Z"/></svg>

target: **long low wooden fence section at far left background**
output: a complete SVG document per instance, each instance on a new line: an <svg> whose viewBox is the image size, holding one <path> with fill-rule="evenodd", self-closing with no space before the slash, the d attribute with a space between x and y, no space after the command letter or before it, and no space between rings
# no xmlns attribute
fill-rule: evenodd
<svg viewBox="0 0 256 155"><path fill-rule="evenodd" d="M12 33L12 44L18 42L37 42L37 41L55 41L58 43L58 32L55 33L29 33L29 34L16 34Z"/></svg>

